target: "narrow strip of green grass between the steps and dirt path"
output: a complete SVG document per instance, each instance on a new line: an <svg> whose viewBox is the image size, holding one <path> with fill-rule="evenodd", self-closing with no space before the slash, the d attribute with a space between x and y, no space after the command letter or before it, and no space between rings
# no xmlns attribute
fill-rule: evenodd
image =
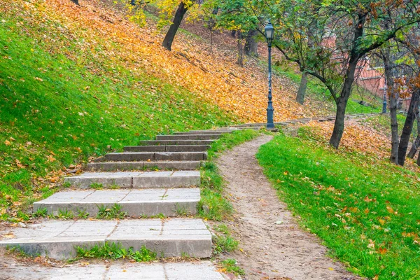
<svg viewBox="0 0 420 280"><path fill-rule="evenodd" d="M201 169L201 197L198 204L198 214L202 218L221 221L228 218L232 212L232 204L223 197L225 182L218 171L214 160L223 151L257 137L255 130L241 130L230 134L223 134L220 139L211 144L207 151L208 161Z"/></svg>

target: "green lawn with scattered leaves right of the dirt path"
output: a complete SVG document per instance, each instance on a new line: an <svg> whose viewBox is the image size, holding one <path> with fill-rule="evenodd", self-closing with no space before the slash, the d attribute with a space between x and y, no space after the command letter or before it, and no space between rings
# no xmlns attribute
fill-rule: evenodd
<svg viewBox="0 0 420 280"><path fill-rule="evenodd" d="M302 227L352 272L419 279L419 175L387 161L281 134L258 160Z"/></svg>

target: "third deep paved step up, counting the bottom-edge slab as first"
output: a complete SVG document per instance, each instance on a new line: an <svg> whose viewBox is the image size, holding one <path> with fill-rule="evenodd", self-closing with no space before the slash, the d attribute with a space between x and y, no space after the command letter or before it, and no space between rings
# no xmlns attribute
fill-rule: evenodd
<svg viewBox="0 0 420 280"><path fill-rule="evenodd" d="M58 214L59 209L85 211L91 217L98 214L99 207L121 206L121 211L130 217L155 216L167 217L197 214L200 202L199 188L151 188L144 190L73 190L59 192L45 200L34 203L34 211L48 209L48 214Z"/></svg>

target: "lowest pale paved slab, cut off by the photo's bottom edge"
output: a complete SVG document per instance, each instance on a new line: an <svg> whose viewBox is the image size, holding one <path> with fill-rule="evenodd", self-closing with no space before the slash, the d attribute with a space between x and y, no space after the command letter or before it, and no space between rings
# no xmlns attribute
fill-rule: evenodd
<svg viewBox="0 0 420 280"><path fill-rule="evenodd" d="M66 263L64 267L50 267L25 262L4 265L0 269L3 280L227 280L209 260L193 262L99 262L89 265ZM10 278L12 276L12 278Z"/></svg>

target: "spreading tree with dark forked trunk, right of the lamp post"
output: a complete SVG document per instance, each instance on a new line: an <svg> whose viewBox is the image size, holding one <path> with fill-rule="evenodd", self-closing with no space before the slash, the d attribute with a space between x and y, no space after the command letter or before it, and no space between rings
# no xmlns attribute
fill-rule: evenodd
<svg viewBox="0 0 420 280"><path fill-rule="evenodd" d="M269 2L269 3L268 3ZM419 1L264 1L276 18L276 47L302 72L321 80L337 105L330 145L338 148L360 59L420 21ZM274 13L273 13L274 11ZM316 19L314 47L309 27ZM382 28L388 22L388 30ZM337 59L337 55L340 58Z"/></svg>

